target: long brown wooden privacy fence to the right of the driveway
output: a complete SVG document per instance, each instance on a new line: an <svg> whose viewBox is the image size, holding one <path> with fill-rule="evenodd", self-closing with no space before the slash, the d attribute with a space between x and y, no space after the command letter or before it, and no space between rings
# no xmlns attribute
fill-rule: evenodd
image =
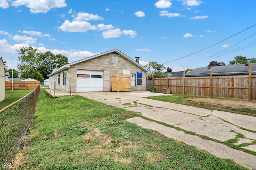
<svg viewBox="0 0 256 170"><path fill-rule="evenodd" d="M152 84L158 92L170 87L172 94L256 100L256 76L250 72L248 76L153 78Z"/></svg>

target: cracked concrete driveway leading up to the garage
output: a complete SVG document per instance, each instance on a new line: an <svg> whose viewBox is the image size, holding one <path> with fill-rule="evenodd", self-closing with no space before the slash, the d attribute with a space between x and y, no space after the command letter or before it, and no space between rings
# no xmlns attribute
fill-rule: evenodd
<svg viewBox="0 0 256 170"><path fill-rule="evenodd" d="M78 93L78 95L108 105L135 111L141 113L144 117L174 125L186 131L192 131L222 142L234 139L240 133L244 135L244 138L238 138L238 142L235 145L241 143L250 144L243 148L256 152L256 145L251 145L252 141L256 140L256 133L250 132L250 130L256 131L256 117L146 99L143 97L163 95L146 91L83 92ZM214 141L204 140L196 135L189 135L183 131L177 131L174 128L150 122L140 117L134 117L127 121L158 131L166 137L206 150L215 156L229 158L238 164L256 169L256 156L252 154L232 149Z"/></svg>

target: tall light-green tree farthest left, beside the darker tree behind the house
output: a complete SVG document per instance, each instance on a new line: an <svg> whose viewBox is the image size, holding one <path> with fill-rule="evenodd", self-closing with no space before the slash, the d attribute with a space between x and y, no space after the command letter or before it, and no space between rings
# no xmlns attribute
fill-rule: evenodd
<svg viewBox="0 0 256 170"><path fill-rule="evenodd" d="M20 72L20 78L33 78L38 81L43 81L44 77L38 70L42 58L42 52L33 47L22 47L18 50L18 70Z"/></svg>

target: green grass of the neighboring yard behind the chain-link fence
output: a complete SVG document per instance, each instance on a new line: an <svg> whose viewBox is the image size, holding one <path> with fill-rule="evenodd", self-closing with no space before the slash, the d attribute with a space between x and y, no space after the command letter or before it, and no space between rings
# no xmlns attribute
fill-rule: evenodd
<svg viewBox="0 0 256 170"><path fill-rule="evenodd" d="M16 102L17 100L23 98L30 92L32 92L34 89L30 90L5 90L5 100L0 102L0 109L9 106L13 102Z"/></svg>

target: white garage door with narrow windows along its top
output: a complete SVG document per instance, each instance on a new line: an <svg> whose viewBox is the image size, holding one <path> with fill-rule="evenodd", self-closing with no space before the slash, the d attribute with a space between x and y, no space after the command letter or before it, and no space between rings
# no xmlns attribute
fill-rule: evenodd
<svg viewBox="0 0 256 170"><path fill-rule="evenodd" d="M103 71L77 70L76 92L103 91Z"/></svg>

